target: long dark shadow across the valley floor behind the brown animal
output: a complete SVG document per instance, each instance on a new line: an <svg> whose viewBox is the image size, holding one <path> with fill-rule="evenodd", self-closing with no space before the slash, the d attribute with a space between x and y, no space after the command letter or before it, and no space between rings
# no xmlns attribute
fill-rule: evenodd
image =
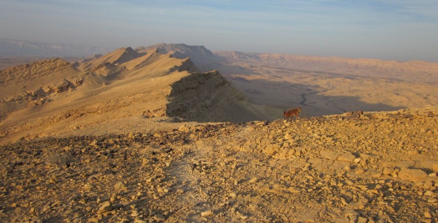
<svg viewBox="0 0 438 223"><path fill-rule="evenodd" d="M328 89L317 85L263 79L234 78L229 80L257 104L274 106L282 110L301 106L301 117L336 115L355 110L377 112L406 108L385 104L388 100L386 98L379 98L379 103L368 103L356 96L324 95Z"/></svg>

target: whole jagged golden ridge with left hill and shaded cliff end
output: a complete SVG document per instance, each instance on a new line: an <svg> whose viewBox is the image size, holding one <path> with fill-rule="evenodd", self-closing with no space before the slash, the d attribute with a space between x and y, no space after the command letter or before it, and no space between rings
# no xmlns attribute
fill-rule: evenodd
<svg viewBox="0 0 438 223"><path fill-rule="evenodd" d="M127 47L73 65L52 59L0 71L0 141L96 132L102 123L101 133L108 133L134 117L243 122L281 116L252 105L218 72L199 73L189 58L173 53Z"/></svg>

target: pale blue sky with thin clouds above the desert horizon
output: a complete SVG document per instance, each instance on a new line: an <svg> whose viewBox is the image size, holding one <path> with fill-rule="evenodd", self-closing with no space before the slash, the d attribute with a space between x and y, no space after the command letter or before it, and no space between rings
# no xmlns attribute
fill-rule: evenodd
<svg viewBox="0 0 438 223"><path fill-rule="evenodd" d="M0 38L438 62L438 1L0 0Z"/></svg>

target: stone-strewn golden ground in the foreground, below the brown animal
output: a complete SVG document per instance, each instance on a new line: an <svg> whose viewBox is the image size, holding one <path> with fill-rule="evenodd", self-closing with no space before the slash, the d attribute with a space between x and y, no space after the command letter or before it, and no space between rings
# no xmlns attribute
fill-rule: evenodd
<svg viewBox="0 0 438 223"><path fill-rule="evenodd" d="M0 147L0 220L436 222L438 108Z"/></svg>

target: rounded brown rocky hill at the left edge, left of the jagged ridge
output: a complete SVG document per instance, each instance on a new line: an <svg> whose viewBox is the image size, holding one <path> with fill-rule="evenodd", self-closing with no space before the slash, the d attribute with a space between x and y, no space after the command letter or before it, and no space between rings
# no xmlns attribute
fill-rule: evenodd
<svg viewBox="0 0 438 223"><path fill-rule="evenodd" d="M51 94L72 90L84 81L62 59L50 59L0 71L0 121L20 109L41 105Z"/></svg>

